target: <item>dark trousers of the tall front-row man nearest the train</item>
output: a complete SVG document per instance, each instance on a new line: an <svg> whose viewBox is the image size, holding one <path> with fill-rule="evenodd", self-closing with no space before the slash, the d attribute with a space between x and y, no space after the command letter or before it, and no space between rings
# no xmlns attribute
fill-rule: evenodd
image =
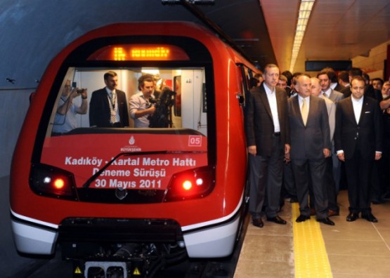
<svg viewBox="0 0 390 278"><path fill-rule="evenodd" d="M266 216L277 216L282 187L284 146L280 137L273 140L271 157L249 154L249 213L252 218L261 218L263 206Z"/></svg>

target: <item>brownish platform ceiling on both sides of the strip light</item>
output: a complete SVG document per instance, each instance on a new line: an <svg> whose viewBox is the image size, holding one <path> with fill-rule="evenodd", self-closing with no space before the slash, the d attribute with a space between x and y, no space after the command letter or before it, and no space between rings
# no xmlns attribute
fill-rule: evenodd
<svg viewBox="0 0 390 278"><path fill-rule="evenodd" d="M300 1L259 1L278 65L289 69ZM304 72L306 60L349 60L389 39L389 0L316 0L294 71Z"/></svg>

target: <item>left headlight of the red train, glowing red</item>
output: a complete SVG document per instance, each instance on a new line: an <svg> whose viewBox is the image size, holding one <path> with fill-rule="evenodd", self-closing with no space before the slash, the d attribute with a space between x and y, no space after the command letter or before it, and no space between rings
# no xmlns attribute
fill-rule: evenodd
<svg viewBox="0 0 390 278"><path fill-rule="evenodd" d="M77 199L72 173L46 164L32 164L30 187L39 195Z"/></svg>

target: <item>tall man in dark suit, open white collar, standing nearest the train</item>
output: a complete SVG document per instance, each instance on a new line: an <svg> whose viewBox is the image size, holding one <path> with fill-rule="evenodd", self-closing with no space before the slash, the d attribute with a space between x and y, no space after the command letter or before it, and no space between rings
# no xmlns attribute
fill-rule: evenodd
<svg viewBox="0 0 390 278"><path fill-rule="evenodd" d="M286 224L277 211L280 206L283 159L290 153L287 95L277 87L279 68L266 65L264 82L247 96L245 133L249 152L249 213L253 225L263 227L262 208L268 221Z"/></svg>

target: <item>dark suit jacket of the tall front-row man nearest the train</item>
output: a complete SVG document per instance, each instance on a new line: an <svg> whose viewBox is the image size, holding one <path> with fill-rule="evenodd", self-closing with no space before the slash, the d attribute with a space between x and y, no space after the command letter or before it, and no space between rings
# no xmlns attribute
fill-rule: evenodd
<svg viewBox="0 0 390 278"><path fill-rule="evenodd" d="M273 119L271 107L266 95L266 86L263 82L259 87L253 88L247 95L245 105L245 133L247 145L256 145L257 155L271 156L273 146ZM282 146L290 144L290 128L287 115L287 94L276 87L276 102L278 105L278 118L280 124L280 140Z"/></svg>

